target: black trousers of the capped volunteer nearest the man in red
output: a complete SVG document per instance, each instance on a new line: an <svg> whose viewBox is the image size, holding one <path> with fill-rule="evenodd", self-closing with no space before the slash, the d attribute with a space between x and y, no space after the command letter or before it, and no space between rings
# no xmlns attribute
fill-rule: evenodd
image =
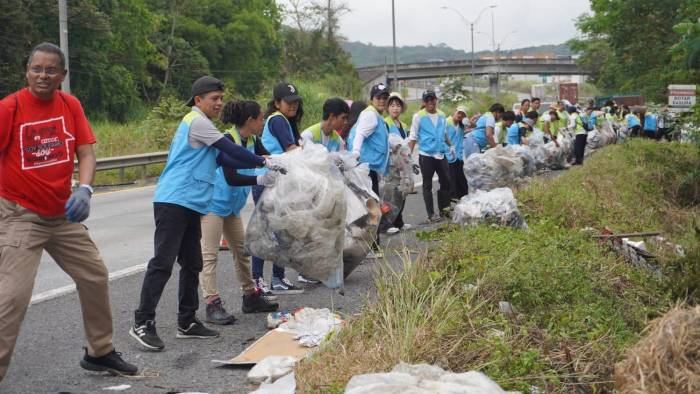
<svg viewBox="0 0 700 394"><path fill-rule="evenodd" d="M153 203L155 255L148 262L141 301L134 313L136 324L155 320L156 307L177 258L180 264L178 315L180 327L192 323L199 307L199 273L202 272L201 215L176 204Z"/></svg>

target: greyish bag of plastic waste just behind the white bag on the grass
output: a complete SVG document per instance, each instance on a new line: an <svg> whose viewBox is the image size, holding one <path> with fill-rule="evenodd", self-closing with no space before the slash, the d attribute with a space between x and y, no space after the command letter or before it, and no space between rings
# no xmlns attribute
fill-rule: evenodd
<svg viewBox="0 0 700 394"><path fill-rule="evenodd" d="M464 162L464 175L470 192L514 186L519 183L522 173L522 159L502 146L471 155Z"/></svg>

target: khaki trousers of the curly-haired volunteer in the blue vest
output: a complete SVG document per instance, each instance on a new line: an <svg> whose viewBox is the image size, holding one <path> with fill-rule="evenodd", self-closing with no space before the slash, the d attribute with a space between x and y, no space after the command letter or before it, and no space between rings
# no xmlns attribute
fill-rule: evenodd
<svg viewBox="0 0 700 394"><path fill-rule="evenodd" d="M250 274L250 256L245 254L243 244L245 242L245 229L243 220L236 215L221 217L212 213L202 216L202 273L199 274L199 282L202 284L204 297L219 295L219 286L216 277L219 261L219 243L221 235L228 242L229 250L236 264L236 276L241 282L243 293L255 291L255 282Z"/></svg>

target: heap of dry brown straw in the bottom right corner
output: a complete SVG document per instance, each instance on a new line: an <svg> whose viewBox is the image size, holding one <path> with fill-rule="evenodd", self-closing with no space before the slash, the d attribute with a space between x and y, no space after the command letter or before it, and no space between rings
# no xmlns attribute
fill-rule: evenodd
<svg viewBox="0 0 700 394"><path fill-rule="evenodd" d="M615 366L622 394L700 392L700 306L675 307L651 322Z"/></svg>

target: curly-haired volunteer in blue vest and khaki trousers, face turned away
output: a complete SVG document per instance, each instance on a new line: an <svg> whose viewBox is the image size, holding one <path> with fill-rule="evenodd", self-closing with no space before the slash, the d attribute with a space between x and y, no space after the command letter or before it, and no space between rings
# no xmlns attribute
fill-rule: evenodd
<svg viewBox="0 0 700 394"><path fill-rule="evenodd" d="M269 153L257 138L262 133L263 114L255 101L230 101L221 113L221 122L233 125L224 136L259 156ZM250 256L244 251L245 229L240 212L245 206L253 185L273 185L279 173L268 171L255 176L255 170L234 170L219 167L214 181L214 196L209 213L202 216L202 259L204 266L199 275L202 294L206 300L206 321L213 324L232 324L236 319L224 309L219 295L217 267L219 242L223 234L236 264L236 276L243 290L243 313L273 312L278 305L264 297L255 287L250 272Z"/></svg>

